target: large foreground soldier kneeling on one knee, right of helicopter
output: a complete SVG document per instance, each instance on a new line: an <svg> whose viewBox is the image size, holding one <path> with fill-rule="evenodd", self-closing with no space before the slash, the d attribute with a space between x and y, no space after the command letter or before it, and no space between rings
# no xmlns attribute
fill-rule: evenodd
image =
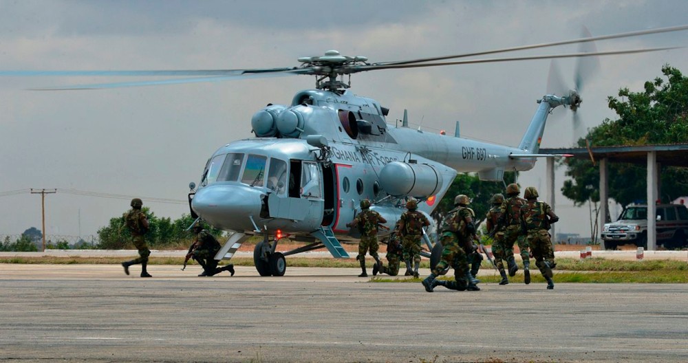
<svg viewBox="0 0 688 363"><path fill-rule="evenodd" d="M480 290L480 287L477 287L471 278L464 248L467 243L471 243L475 234L475 224L473 224L475 214L471 208L468 208L469 203L469 197L457 195L454 198L456 208L451 210L447 217L442 220L442 225L440 225L442 259L432 269L430 275L422 281L427 292L433 292L433 289L438 285L459 291ZM454 281L437 280L437 276L440 276L450 266L454 269Z"/></svg>

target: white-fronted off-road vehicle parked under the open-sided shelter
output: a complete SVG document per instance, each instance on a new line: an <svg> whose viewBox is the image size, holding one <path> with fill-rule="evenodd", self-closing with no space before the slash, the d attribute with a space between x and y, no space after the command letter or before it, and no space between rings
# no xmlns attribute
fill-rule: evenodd
<svg viewBox="0 0 688 363"><path fill-rule="evenodd" d="M682 204L658 204L656 215L657 245L667 249L688 245L688 209ZM602 230L605 250L619 245L634 244L647 248L647 206L627 206L619 220L606 223Z"/></svg>

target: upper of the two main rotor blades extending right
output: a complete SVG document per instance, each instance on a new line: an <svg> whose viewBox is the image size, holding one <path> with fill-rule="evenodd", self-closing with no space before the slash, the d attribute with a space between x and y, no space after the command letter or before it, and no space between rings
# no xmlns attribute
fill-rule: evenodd
<svg viewBox="0 0 688 363"><path fill-rule="evenodd" d="M440 57L432 57L432 58L418 58L418 59L413 59L409 61L394 61L394 62L382 62L382 63L374 63L374 65L407 65L411 63L423 63L423 62L433 62L433 61L444 61L445 59L453 59L453 58L464 58L464 57L469 57L469 56L484 56L486 54L497 54L497 53L504 53L504 52L514 52L517 50L530 50L530 49L536 49L536 48L544 48L544 47L554 47L557 45L566 45L566 44L574 44L574 43L586 43L590 41L603 41L607 39L619 39L619 38L627 38L630 36L641 36L641 35L647 35L647 34L658 34L658 33L667 33L667 32L679 32L681 30L688 30L688 25L678 25L674 27L668 27L668 28L657 28L657 29L650 29L650 30L638 30L635 32L626 32L626 33L619 33L619 34L611 34L611 35L601 35L601 36L593 36L593 37L585 37L585 38L579 38L579 39L572 39L570 41L556 41L552 43L540 43L540 44L533 44L533 45L522 45L520 47L508 47L508 48L502 48L502 49L497 49L497 50L487 50L484 52L475 52L475 53L465 53L465 54L456 54L453 56L440 56Z"/></svg>

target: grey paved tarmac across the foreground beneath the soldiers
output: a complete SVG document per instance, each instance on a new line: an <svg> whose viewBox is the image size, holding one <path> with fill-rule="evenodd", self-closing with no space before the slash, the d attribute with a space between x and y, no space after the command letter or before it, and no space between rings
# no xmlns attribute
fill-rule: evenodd
<svg viewBox="0 0 688 363"><path fill-rule="evenodd" d="M360 270L0 264L0 360L685 362L688 285L480 284L429 294ZM555 273L556 282L556 273Z"/></svg>

